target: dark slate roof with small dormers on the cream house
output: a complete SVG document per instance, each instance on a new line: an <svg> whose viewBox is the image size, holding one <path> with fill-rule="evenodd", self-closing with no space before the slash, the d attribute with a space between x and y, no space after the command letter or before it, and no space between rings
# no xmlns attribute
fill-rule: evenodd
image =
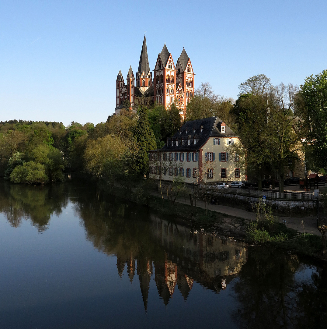
<svg viewBox="0 0 327 329"><path fill-rule="evenodd" d="M160 151L199 150L208 141L209 137L238 137L228 126L225 127L226 133L221 133L221 124L222 120L218 116L187 121L177 130L173 137L167 138L168 146L165 144ZM188 139L190 139L190 145L188 144ZM194 139L196 139L196 144L194 144ZM178 140L177 146L176 140ZM185 140L184 145L182 145L181 140Z"/></svg>

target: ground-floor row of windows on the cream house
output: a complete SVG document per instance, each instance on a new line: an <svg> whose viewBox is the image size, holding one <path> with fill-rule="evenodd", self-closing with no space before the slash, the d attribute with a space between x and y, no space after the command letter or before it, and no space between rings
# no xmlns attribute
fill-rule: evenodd
<svg viewBox="0 0 327 329"><path fill-rule="evenodd" d="M192 174L192 177L193 178L197 178L197 168L194 167L193 168L193 174ZM157 166L149 166L149 173L150 174L155 174L155 175L160 175L162 174L161 173L161 168L160 167L157 167ZM191 168L183 168L183 167L180 167L180 168L173 168L173 167L168 167L168 170L167 170L167 167L164 167L163 168L163 175L164 176L167 176L167 173L169 176L181 176L181 177L184 177L184 175L186 177L191 177ZM206 172L206 175L207 175L207 178L209 179L212 179L214 178L214 171L213 171L213 168L209 168L207 169L207 172ZM240 178L241 177L241 170L240 168L235 168L234 169L234 176L235 178ZM220 177L221 178L227 178L227 168L221 168L220 169Z"/></svg>

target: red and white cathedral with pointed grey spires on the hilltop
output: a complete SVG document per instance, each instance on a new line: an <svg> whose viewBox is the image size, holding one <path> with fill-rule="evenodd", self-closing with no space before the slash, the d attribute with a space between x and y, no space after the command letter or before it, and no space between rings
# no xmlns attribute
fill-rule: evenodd
<svg viewBox="0 0 327 329"><path fill-rule="evenodd" d="M136 84L131 66L126 82L121 70L117 75L115 113L119 115L125 101L129 101L133 109L147 100L150 103L162 104L166 109L169 109L175 102L179 108L179 114L185 118L186 106L194 95L194 75L191 60L185 49L183 48L175 64L165 43L158 54L152 79L144 36L140 62L136 72Z"/></svg>

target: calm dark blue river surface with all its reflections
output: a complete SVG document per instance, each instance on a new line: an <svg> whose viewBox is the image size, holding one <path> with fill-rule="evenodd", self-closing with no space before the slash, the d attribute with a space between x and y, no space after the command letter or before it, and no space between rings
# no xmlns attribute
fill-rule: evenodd
<svg viewBox="0 0 327 329"><path fill-rule="evenodd" d="M90 183L0 181L0 328L325 328L326 273Z"/></svg>

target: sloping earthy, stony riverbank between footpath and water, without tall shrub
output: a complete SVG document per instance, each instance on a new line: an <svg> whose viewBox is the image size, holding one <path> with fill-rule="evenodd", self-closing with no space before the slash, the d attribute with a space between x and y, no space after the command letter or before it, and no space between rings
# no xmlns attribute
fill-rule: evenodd
<svg viewBox="0 0 327 329"><path fill-rule="evenodd" d="M209 205L206 214L204 202L202 201L197 201L197 207L192 207L188 204L189 200L186 197L179 197L176 198L175 204L173 204L166 196L164 196L164 200L162 200L161 194L151 190L149 187L146 189L146 192L144 192L142 186L133 190L125 190L117 186L115 186L114 189L112 187L110 188L105 181L98 184L110 194L134 201L139 205L157 211L161 215L168 216L176 223L182 223L191 227L194 233L202 231L213 236L225 236L227 238L245 241L249 244L255 243L253 238L248 234L249 223L256 220L255 213L247 212L247 218L242 218L220 212L219 206L213 209L215 205ZM240 209L233 209L234 211L231 211L231 213L240 211ZM283 218L278 219L278 221L283 220ZM288 223L292 223L289 217ZM309 233L309 230L305 230L305 234L303 234L298 232L296 227L294 227L294 229L287 227L283 222L276 222L274 225L277 231L282 233L286 239L277 241L270 240L266 243L302 256L323 260L321 256L321 235L319 236L317 234L320 233L318 230L313 233ZM314 231L315 227L312 223L311 226L310 231Z"/></svg>

